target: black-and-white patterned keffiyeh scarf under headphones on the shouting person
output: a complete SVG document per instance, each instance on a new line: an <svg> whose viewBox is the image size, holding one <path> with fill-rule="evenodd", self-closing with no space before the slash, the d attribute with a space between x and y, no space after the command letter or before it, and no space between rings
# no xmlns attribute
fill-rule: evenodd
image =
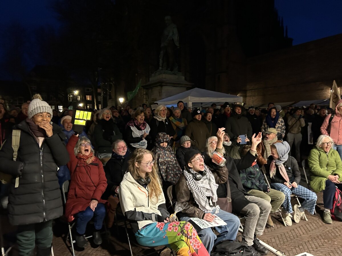
<svg viewBox="0 0 342 256"><path fill-rule="evenodd" d="M186 179L186 184L188 185L188 188L193 194L193 197L201 211L208 213L216 209L215 213L217 213L220 207L217 204L214 206L212 202L217 201L216 190L219 185L216 184L215 177L209 168L206 165L204 165L204 168L206 170L206 175L202 176L201 181L196 181L194 179L193 174L195 171L193 169L189 170L190 173L189 171L184 170L183 173Z"/></svg>

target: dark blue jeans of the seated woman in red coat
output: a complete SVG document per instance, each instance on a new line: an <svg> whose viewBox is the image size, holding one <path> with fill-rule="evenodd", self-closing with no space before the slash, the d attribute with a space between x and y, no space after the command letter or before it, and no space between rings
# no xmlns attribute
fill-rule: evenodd
<svg viewBox="0 0 342 256"><path fill-rule="evenodd" d="M94 217L94 227L96 230L102 228L103 220L106 216L106 208L103 203L98 203L95 211L88 206L86 210L77 213L76 215L76 231L79 234L86 232L87 223Z"/></svg>

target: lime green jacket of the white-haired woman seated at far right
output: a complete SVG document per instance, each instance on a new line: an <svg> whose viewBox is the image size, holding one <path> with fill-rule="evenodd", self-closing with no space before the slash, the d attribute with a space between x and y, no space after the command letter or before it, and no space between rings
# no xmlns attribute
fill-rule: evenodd
<svg viewBox="0 0 342 256"><path fill-rule="evenodd" d="M315 192L325 189L325 181L329 175L339 175L342 182L342 161L336 150L331 150L328 154L322 148L313 148L307 159L310 167L310 186Z"/></svg>

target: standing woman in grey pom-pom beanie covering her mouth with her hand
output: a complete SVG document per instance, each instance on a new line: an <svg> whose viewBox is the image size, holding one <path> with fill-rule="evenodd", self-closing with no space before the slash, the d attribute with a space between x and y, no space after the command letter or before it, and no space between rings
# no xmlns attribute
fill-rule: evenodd
<svg viewBox="0 0 342 256"><path fill-rule="evenodd" d="M19 255L31 255L36 245L37 255L50 255L52 221L63 214L56 172L57 166L69 161L69 154L65 134L50 124L51 117L49 104L35 95L28 117L14 128L0 151L0 171L10 175L8 218L18 226Z"/></svg>

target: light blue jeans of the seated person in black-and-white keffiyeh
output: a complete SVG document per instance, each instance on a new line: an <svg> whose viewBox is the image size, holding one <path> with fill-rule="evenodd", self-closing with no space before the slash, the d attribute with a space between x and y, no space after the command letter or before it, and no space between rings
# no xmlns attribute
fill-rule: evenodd
<svg viewBox="0 0 342 256"><path fill-rule="evenodd" d="M214 214L215 210L211 213ZM225 212L223 210L219 210L219 213L216 213L227 225L215 227L216 231L220 233L218 236L214 234L211 228L205 228L201 230L197 230L198 236L201 239L203 245L207 248L207 251L211 252L214 244L223 241L225 239L235 240L237 232L239 231L240 220L237 216L232 213ZM181 221L188 221L190 217L181 217Z"/></svg>

